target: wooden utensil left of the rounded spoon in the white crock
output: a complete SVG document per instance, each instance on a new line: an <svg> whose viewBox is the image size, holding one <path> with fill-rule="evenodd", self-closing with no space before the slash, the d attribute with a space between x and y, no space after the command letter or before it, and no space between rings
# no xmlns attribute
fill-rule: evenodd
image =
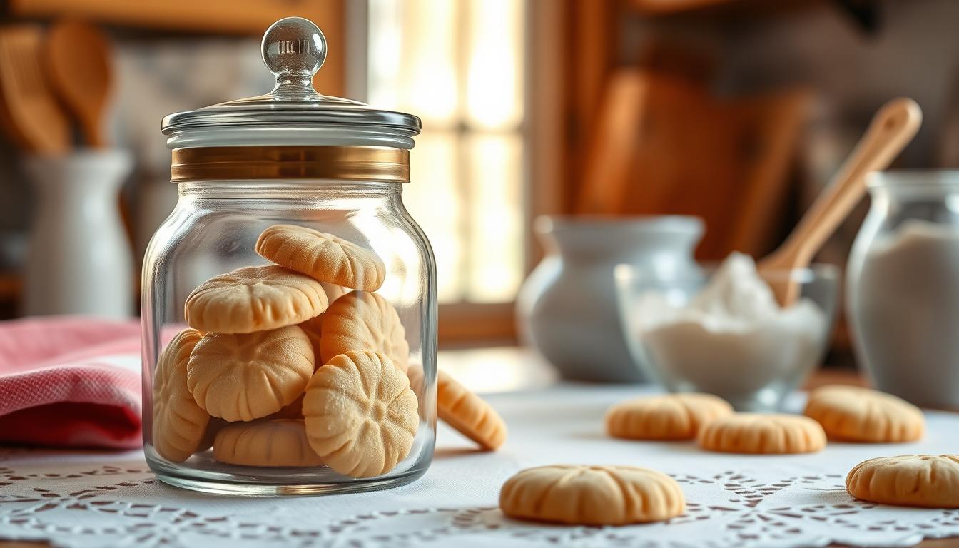
<svg viewBox="0 0 959 548"><path fill-rule="evenodd" d="M12 140L25 150L58 154L70 146L66 116L40 67L42 33L35 26L0 30L2 120Z"/></svg>

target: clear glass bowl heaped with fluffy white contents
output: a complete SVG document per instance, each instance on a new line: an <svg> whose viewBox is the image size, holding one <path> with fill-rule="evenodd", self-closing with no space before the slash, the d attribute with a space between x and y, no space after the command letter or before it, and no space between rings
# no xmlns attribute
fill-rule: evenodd
<svg viewBox="0 0 959 548"><path fill-rule="evenodd" d="M800 298L780 306L769 281L791 279ZM697 271L616 269L622 325L637 367L672 392L714 393L739 411L779 409L830 340L838 269L758 272L732 253Z"/></svg>

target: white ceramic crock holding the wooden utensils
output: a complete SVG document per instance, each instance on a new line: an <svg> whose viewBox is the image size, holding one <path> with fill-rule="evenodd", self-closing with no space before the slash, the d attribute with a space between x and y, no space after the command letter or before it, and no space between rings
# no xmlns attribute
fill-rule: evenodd
<svg viewBox="0 0 959 548"><path fill-rule="evenodd" d="M122 150L32 155L36 209L24 270L30 316L133 313L133 263L118 193L132 168Z"/></svg>

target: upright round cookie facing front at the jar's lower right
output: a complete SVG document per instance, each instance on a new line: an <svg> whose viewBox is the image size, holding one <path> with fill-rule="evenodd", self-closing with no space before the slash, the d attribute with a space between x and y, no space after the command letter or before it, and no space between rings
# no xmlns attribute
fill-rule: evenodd
<svg viewBox="0 0 959 548"><path fill-rule="evenodd" d="M385 474L412 447L419 415L406 373L384 354L349 352L316 369L303 398L306 433L340 474Z"/></svg>

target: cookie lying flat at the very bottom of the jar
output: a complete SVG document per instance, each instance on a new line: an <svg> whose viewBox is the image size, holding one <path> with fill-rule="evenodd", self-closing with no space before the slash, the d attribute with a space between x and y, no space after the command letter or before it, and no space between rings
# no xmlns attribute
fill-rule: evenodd
<svg viewBox="0 0 959 548"><path fill-rule="evenodd" d="M320 466L306 441L302 419L272 418L224 426L213 443L213 458L228 465Z"/></svg>

